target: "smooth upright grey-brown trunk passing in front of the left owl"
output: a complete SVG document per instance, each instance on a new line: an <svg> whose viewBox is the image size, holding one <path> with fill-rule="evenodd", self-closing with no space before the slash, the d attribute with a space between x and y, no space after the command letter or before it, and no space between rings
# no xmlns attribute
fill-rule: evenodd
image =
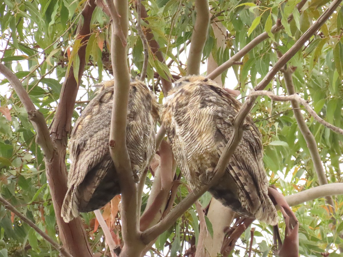
<svg viewBox="0 0 343 257"><path fill-rule="evenodd" d="M127 65L126 37L128 35L128 2L107 0L112 23L111 61L114 76L114 96L110 130L110 153L119 177L121 188L121 232L124 246L121 257L138 256L143 248L139 241L137 187L126 147L127 108L130 77ZM116 23L115 21L119 21ZM119 32L118 29L121 31ZM123 38L122 35L125 37Z"/></svg>

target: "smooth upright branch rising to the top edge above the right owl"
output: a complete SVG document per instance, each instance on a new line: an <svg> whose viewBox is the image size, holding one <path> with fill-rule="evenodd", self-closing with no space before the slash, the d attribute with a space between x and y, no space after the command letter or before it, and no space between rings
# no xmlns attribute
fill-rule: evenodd
<svg viewBox="0 0 343 257"><path fill-rule="evenodd" d="M198 75L200 73L202 51L204 50L210 24L209 1L196 0L195 10L197 15L191 38L191 47L188 53L187 75Z"/></svg>

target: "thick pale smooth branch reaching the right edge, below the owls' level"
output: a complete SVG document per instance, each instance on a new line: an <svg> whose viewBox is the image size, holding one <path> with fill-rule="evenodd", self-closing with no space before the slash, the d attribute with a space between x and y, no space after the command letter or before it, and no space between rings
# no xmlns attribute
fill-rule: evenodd
<svg viewBox="0 0 343 257"><path fill-rule="evenodd" d="M285 196L285 199L289 206L296 206L307 201L314 199L343 194L343 183L331 183L314 188L307 189L305 191L296 193L294 195Z"/></svg>

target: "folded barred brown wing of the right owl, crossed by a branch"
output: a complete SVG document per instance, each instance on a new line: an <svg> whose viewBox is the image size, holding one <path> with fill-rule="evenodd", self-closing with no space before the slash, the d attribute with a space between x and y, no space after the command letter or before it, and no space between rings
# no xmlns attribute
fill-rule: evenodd
<svg viewBox="0 0 343 257"><path fill-rule="evenodd" d="M223 90L220 91L220 95L234 109L235 113L238 113L240 103ZM218 115L215 117L217 137L219 138L218 156L222 155L233 134L233 124L230 121L232 114L228 108L219 108ZM242 207L257 219L275 224L277 213L268 196L268 180L262 161L261 135L251 117L247 117L245 124L249 125L248 129L244 132L243 138L230 158L226 170L237 185L238 199Z"/></svg>

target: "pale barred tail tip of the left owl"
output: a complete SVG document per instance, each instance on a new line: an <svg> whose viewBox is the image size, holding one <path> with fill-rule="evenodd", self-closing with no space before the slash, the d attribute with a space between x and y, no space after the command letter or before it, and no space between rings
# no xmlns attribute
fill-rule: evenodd
<svg viewBox="0 0 343 257"><path fill-rule="evenodd" d="M75 197L76 188L68 188L67 194L64 197L63 205L61 208L61 217L64 222L68 223L75 217L79 216L77 198Z"/></svg>

